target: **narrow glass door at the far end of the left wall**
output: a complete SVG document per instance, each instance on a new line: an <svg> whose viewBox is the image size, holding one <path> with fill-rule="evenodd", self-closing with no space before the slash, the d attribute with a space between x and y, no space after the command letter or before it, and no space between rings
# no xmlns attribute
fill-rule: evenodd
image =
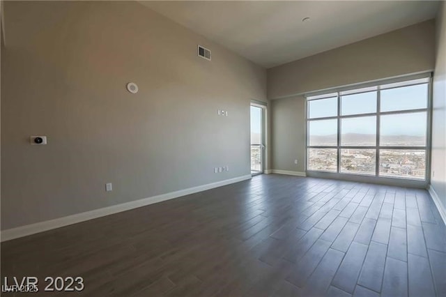
<svg viewBox="0 0 446 297"><path fill-rule="evenodd" d="M251 105L251 174L263 173L263 108Z"/></svg>

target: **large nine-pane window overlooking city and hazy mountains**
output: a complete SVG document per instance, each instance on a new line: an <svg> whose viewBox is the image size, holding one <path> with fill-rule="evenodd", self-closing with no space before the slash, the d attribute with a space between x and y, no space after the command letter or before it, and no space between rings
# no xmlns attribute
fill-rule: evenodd
<svg viewBox="0 0 446 297"><path fill-rule="evenodd" d="M307 97L307 170L426 179L429 77Z"/></svg>

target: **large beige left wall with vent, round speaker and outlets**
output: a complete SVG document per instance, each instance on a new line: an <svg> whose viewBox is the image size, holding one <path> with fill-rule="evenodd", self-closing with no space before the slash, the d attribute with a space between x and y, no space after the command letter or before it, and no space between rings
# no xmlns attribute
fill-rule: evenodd
<svg viewBox="0 0 446 297"><path fill-rule="evenodd" d="M266 70L136 2L4 9L2 229L249 174L249 102L266 100Z"/></svg>

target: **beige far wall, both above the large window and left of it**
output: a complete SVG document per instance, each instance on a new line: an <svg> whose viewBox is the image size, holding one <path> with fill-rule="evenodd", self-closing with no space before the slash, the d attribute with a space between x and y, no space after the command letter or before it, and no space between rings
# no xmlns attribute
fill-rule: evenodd
<svg viewBox="0 0 446 297"><path fill-rule="evenodd" d="M268 98L433 70L434 53L435 23L430 20L270 68ZM304 171L304 100L271 100L272 169Z"/></svg>

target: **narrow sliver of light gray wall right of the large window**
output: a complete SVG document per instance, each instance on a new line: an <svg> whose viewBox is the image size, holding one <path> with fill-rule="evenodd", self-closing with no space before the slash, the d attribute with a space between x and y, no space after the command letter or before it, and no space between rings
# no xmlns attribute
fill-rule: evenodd
<svg viewBox="0 0 446 297"><path fill-rule="evenodd" d="M431 186L446 213L446 5L437 18L437 61L433 73ZM434 174L435 172L435 174Z"/></svg>

